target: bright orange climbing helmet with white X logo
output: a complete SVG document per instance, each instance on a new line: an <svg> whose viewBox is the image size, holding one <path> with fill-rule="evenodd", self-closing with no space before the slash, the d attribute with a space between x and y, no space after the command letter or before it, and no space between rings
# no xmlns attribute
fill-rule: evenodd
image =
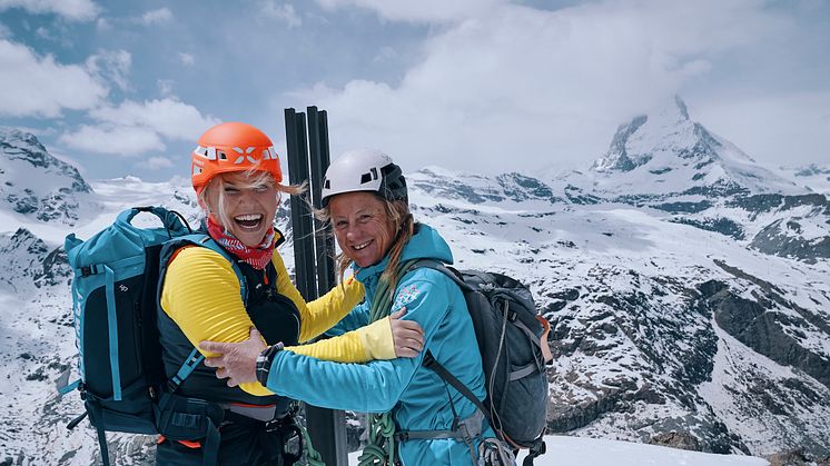
<svg viewBox="0 0 830 466"><path fill-rule="evenodd" d="M279 157L265 132L239 122L219 123L199 137L190 156L190 181L196 192L219 173L231 171L267 171L283 181Z"/></svg>

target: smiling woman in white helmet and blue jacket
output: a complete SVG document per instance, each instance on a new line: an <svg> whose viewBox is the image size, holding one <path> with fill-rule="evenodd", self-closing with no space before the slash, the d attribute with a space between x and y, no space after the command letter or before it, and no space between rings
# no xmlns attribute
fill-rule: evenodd
<svg viewBox="0 0 830 466"><path fill-rule="evenodd" d="M482 359L461 289L441 271L401 269L419 259L453 262L446 241L409 212L401 168L376 150L346 152L326 171L323 205L343 250L340 275L352 268L366 287L365 303L338 329L368 324L381 300L391 303L392 311L406 307L404 318L424 329L424 347L484 399ZM229 377L229 385L259 380L274 393L315 406L392 412L396 455L388 457L393 449L387 442L386 452L374 458L374 449L364 450L362 464L391 464L394 456L406 465L478 464L482 450L494 445L484 442L494 434L475 405L422 365L425 353L412 359L337 364L259 340L205 341L201 347L223 354L206 364L221 367L217 376Z"/></svg>

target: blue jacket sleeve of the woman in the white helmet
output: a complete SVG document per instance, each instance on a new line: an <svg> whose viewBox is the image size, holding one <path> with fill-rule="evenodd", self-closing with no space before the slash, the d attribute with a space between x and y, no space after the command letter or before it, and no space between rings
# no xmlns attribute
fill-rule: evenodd
<svg viewBox="0 0 830 466"><path fill-rule="evenodd" d="M435 277L441 272L418 269L415 274ZM404 318L423 327L428 347L449 308L448 284L417 277L398 286L392 310L406 306ZM401 399L423 357L422 353L415 358L338 364L280 351L271 364L267 387L315 406L381 413L392 409Z"/></svg>

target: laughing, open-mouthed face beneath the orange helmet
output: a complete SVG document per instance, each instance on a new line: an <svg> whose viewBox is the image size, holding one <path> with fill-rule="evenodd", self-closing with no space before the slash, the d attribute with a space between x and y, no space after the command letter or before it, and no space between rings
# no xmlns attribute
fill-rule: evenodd
<svg viewBox="0 0 830 466"><path fill-rule="evenodd" d="M279 204L277 185L261 172L218 175L207 187L209 212L245 246L257 247L274 225Z"/></svg>

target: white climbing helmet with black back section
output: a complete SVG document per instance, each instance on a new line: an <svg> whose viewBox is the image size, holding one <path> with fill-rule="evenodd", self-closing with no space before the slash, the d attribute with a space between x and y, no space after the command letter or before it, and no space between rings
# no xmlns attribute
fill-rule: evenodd
<svg viewBox="0 0 830 466"><path fill-rule="evenodd" d="M406 179L389 156L375 149L344 152L326 170L322 204L344 192L372 191L386 200L408 201Z"/></svg>

